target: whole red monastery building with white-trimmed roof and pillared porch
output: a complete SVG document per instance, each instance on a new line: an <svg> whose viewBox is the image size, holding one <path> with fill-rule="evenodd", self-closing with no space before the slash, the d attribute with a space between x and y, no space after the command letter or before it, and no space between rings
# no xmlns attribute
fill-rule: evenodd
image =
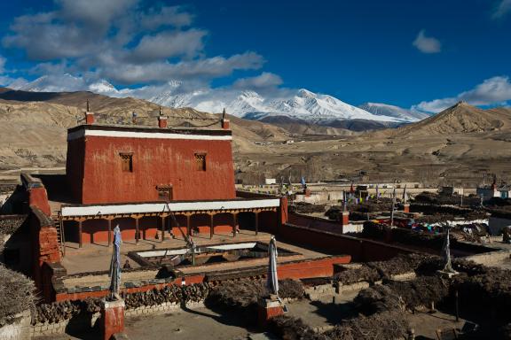
<svg viewBox="0 0 511 340"><path fill-rule="evenodd" d="M232 232L276 224L276 197L236 197L232 131L102 125L86 112L86 124L67 131L67 200L51 199L51 214L67 241ZM246 194L245 194L246 196ZM167 234L167 235L166 235Z"/></svg>

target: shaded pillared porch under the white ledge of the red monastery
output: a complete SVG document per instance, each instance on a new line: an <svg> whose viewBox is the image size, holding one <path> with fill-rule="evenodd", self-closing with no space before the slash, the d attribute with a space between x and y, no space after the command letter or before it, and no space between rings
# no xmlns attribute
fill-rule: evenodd
<svg viewBox="0 0 511 340"><path fill-rule="evenodd" d="M67 242L78 243L106 243L111 246L113 230L119 224L123 241L135 241L151 238L164 242L171 237L208 235L211 239L216 229L225 232L230 229L232 237L236 237L240 228L253 230L258 235L260 229L260 214L272 213L278 219L278 210L275 207L208 210L188 212L161 212L161 213L121 213L111 215L67 216L62 217L65 223ZM241 220L241 226L240 226ZM272 220L272 219L271 219ZM207 221L207 222L206 222ZM205 230L206 229L206 230Z"/></svg>

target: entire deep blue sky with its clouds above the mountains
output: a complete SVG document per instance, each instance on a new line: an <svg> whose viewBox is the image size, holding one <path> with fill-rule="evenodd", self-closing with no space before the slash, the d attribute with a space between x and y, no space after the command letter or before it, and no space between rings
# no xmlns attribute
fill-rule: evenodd
<svg viewBox="0 0 511 340"><path fill-rule="evenodd" d="M0 36L4 85L71 73L425 111L511 101L511 0L2 2Z"/></svg>

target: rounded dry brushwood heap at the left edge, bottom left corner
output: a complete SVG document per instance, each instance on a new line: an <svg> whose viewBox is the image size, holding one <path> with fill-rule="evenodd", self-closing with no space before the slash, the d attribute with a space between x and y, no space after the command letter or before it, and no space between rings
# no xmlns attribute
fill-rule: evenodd
<svg viewBox="0 0 511 340"><path fill-rule="evenodd" d="M33 307L34 282L23 274L0 265L0 327L12 318Z"/></svg>

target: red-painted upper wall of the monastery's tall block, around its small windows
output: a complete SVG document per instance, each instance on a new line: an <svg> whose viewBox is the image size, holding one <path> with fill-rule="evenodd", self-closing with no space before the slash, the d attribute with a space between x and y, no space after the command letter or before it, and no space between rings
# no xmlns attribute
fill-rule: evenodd
<svg viewBox="0 0 511 340"><path fill-rule="evenodd" d="M157 201L156 187L169 184L174 200L236 197L231 141L103 136L80 141L67 145L67 178L82 204ZM120 152L133 153L132 173L122 171ZM206 171L196 170L195 153L207 154Z"/></svg>

